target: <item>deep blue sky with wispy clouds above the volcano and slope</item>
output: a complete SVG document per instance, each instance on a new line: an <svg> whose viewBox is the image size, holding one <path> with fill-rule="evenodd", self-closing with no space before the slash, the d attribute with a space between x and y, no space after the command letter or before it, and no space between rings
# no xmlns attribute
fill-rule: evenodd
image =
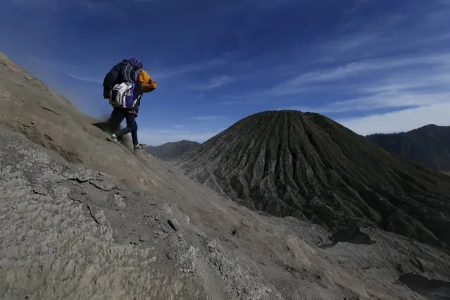
<svg viewBox="0 0 450 300"><path fill-rule="evenodd" d="M68 4L70 2L70 4ZM246 115L323 113L358 134L450 124L450 0L3 0L0 51L85 113L138 56L140 142L204 142Z"/></svg>

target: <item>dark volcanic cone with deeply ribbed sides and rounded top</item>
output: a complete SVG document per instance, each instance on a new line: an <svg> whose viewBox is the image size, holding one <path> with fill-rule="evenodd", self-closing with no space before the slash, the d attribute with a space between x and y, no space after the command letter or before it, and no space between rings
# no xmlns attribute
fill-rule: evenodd
<svg viewBox="0 0 450 300"><path fill-rule="evenodd" d="M335 232L377 225L450 245L450 180L317 113L250 115L181 156L194 180L240 204Z"/></svg>

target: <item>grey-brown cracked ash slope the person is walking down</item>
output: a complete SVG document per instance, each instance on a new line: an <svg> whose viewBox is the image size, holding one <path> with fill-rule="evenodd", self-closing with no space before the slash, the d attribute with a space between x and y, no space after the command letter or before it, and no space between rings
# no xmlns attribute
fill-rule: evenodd
<svg viewBox="0 0 450 300"><path fill-rule="evenodd" d="M444 251L375 228L339 242L249 211L106 142L97 120L0 63L1 299L448 296Z"/></svg>

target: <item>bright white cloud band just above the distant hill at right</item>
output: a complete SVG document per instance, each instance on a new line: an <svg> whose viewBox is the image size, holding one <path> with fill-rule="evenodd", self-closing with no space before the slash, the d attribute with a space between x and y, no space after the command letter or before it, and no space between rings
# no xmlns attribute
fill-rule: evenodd
<svg viewBox="0 0 450 300"><path fill-rule="evenodd" d="M408 131L428 124L450 125L449 111L450 103L443 103L336 121L359 135L369 135Z"/></svg>

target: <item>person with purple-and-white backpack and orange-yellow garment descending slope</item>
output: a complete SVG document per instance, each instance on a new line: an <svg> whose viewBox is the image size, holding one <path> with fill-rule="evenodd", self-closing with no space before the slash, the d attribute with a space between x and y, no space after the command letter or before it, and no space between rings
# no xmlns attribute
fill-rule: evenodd
<svg viewBox="0 0 450 300"><path fill-rule="evenodd" d="M121 90L118 92L117 89ZM139 71L135 83L123 83L121 87L116 86L112 89L110 103L113 105L114 109L111 116L116 118L116 120L120 120L120 123L122 123L122 120L125 118L127 127L114 132L111 137L108 137L110 141L119 142L118 139L131 132L134 149L144 149L145 145L139 144L137 139L136 118L137 113L139 112L142 94L154 91L154 89L156 89L156 81L151 78L149 73L145 70ZM126 99L127 96L132 99Z"/></svg>

